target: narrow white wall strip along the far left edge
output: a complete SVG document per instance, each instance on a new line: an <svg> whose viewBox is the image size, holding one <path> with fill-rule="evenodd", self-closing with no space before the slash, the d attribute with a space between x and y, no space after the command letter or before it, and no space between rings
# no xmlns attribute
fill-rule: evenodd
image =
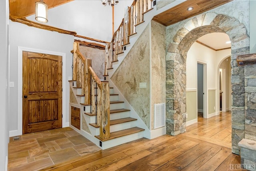
<svg viewBox="0 0 256 171"><path fill-rule="evenodd" d="M0 52L1 52L1 62L0 62L0 109L1 109L1 119L0 119L0 170L7 170L8 161L8 89L6 83L8 81L8 0L0 1Z"/></svg>

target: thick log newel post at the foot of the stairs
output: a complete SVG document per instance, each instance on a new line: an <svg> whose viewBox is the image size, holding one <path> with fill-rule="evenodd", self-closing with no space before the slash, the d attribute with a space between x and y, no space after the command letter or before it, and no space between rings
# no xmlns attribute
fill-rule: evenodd
<svg viewBox="0 0 256 171"><path fill-rule="evenodd" d="M101 120L100 122L100 138L106 139L110 137L110 96L108 83L102 83L101 93Z"/></svg>

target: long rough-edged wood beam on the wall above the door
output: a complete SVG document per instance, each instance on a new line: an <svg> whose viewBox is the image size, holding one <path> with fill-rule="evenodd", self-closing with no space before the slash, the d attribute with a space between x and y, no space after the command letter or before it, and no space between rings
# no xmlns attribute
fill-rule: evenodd
<svg viewBox="0 0 256 171"><path fill-rule="evenodd" d="M32 27L35 27L35 28L50 30L50 31L63 33L63 34L76 35L76 32L63 30L63 29L48 26L48 25L45 25L45 24L40 24L40 23L37 23L37 22L33 22L31 20L28 20L26 18L18 18L18 17L15 17L15 16L9 16L9 19L12 20L13 22L19 22L19 23L26 24L27 26L32 26Z"/></svg>

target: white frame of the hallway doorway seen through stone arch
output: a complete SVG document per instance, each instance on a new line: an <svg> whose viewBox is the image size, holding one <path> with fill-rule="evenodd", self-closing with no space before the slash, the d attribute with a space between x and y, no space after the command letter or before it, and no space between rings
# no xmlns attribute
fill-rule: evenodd
<svg viewBox="0 0 256 171"><path fill-rule="evenodd" d="M208 101L207 101L207 96L208 96L208 92L206 91L206 89L207 89L207 77L206 77L206 65L207 65L207 63L206 62L204 62L204 61L202 61L202 60L197 60L197 62L196 62L196 89L197 89L197 87L198 87L198 85L197 85L197 80L198 80L198 78L197 78L197 71L198 71L198 69L197 69L197 64L202 64L203 65L203 91L204 91L204 96L203 96L203 107L204 107L204 109L203 109L203 111L204 111L204 118L208 118L208 113L207 113L207 111L208 111ZM198 91L198 90L197 90ZM196 91L196 92L197 92ZM197 104L198 102L196 101L196 104ZM196 105L196 107L198 108L198 104ZM197 111L197 109L196 109L196 111ZM196 115L196 118L197 118L197 115Z"/></svg>

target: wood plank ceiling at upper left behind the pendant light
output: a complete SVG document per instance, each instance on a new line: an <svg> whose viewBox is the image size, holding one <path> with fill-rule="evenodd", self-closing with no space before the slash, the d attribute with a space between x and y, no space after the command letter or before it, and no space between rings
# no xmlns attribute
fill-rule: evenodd
<svg viewBox="0 0 256 171"><path fill-rule="evenodd" d="M38 1L40 0L9 0L10 16L22 18L35 14L35 3ZM70 1L73 0L44 0L44 3L50 9Z"/></svg>

